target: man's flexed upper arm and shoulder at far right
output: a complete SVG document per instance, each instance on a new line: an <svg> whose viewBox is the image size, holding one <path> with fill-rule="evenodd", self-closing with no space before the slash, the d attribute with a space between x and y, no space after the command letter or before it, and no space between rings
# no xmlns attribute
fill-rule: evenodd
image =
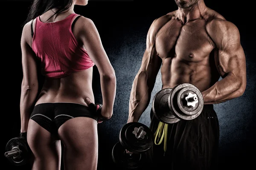
<svg viewBox="0 0 256 170"><path fill-rule="evenodd" d="M229 21L215 19L207 25L207 31L215 42L215 62L221 77L233 75L244 85L246 62L238 28Z"/></svg>

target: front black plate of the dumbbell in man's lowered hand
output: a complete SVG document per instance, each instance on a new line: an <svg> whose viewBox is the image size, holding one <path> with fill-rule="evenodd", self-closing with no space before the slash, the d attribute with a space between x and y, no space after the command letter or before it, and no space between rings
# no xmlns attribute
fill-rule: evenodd
<svg viewBox="0 0 256 170"><path fill-rule="evenodd" d="M143 138L136 138L134 131L143 127ZM125 124L119 133L119 141L122 146L132 153L142 153L149 150L153 145L153 136L149 127L140 122L129 122Z"/></svg>

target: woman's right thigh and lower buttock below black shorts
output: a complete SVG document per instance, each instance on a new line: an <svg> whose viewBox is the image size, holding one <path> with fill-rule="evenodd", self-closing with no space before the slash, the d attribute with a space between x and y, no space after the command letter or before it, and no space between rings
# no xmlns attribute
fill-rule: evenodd
<svg viewBox="0 0 256 170"><path fill-rule="evenodd" d="M88 117L67 120L58 129L64 144L65 170L96 170L98 161L97 121Z"/></svg>

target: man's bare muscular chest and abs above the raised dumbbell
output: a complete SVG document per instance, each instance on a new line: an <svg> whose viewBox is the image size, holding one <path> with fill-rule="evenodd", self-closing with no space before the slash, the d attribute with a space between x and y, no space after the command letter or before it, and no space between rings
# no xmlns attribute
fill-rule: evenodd
<svg viewBox="0 0 256 170"><path fill-rule="evenodd" d="M212 28L207 25L224 17L209 10L200 18L183 24L177 15L174 11L156 21L160 28L155 48L162 59L163 88L186 82L204 91L220 77L214 59L217 57L215 42L209 35Z"/></svg>

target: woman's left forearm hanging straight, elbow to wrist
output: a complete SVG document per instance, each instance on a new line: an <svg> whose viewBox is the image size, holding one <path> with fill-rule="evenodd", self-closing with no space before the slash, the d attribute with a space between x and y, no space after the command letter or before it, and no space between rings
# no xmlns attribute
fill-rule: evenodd
<svg viewBox="0 0 256 170"><path fill-rule="evenodd" d="M32 108L35 105L35 99L38 93L38 87L33 88L21 88L20 96L20 132L26 132L29 123L29 117L32 112Z"/></svg>

